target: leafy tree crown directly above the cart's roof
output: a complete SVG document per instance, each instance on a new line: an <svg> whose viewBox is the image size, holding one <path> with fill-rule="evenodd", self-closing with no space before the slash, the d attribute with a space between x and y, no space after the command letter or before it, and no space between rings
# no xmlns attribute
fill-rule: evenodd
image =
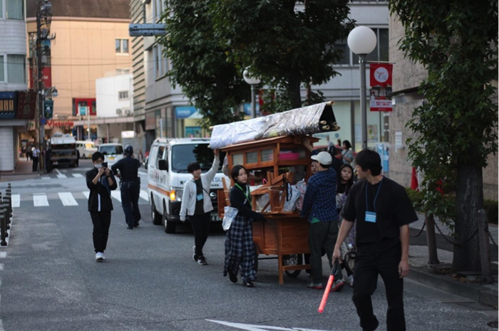
<svg viewBox="0 0 499 331"><path fill-rule="evenodd" d="M302 85L319 85L337 75L332 65L343 51L334 44L354 28L348 3L219 0L210 8L216 36L230 49L230 61L283 90L289 106L297 108L302 107ZM297 10L300 4L303 10Z"/></svg>

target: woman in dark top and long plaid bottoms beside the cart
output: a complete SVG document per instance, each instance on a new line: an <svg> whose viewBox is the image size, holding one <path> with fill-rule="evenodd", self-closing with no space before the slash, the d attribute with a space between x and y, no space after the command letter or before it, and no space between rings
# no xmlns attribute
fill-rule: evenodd
<svg viewBox="0 0 499 331"><path fill-rule="evenodd" d="M266 221L262 214L252 211L251 194L247 186L248 175L245 167L232 168L230 177L235 185L230 189L230 206L237 208L237 216L225 234L224 277L229 275L232 283L237 283L237 272L241 268L242 283L247 288L254 285L257 278L254 270L253 221Z"/></svg>

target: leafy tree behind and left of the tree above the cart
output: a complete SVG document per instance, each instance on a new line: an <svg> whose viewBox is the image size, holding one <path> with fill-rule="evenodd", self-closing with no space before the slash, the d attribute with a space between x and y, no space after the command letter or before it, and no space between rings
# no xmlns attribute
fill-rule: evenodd
<svg viewBox="0 0 499 331"><path fill-rule="evenodd" d="M237 110L250 91L242 72L227 61L230 50L215 38L208 7L216 2L166 1L162 19L168 34L158 38L173 63L170 83L180 85L200 110L205 128L241 120Z"/></svg>

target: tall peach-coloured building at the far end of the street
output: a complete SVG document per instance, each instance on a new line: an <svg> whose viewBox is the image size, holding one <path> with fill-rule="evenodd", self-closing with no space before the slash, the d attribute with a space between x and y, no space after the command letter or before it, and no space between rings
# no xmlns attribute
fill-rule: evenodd
<svg viewBox="0 0 499 331"><path fill-rule="evenodd" d="M31 36L36 33L37 3L26 1L30 41L36 41ZM79 140L102 142L104 137L98 137L96 123L96 80L108 72L130 73L130 1L52 0L51 5L50 36L44 45L49 55L43 81L45 88L56 88L58 96L53 99L51 125L45 126L46 138L62 131Z"/></svg>

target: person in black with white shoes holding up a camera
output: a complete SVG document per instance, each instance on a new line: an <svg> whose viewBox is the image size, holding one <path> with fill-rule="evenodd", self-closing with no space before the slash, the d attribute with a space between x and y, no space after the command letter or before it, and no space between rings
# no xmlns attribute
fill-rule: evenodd
<svg viewBox="0 0 499 331"><path fill-rule="evenodd" d="M104 251L108 245L109 227L111 224L111 191L116 189L113 172L108 167L102 167L104 155L95 152L92 155L93 169L86 172L87 187L90 189L88 195L88 211L93 224L93 249L96 252L96 261L106 260Z"/></svg>

